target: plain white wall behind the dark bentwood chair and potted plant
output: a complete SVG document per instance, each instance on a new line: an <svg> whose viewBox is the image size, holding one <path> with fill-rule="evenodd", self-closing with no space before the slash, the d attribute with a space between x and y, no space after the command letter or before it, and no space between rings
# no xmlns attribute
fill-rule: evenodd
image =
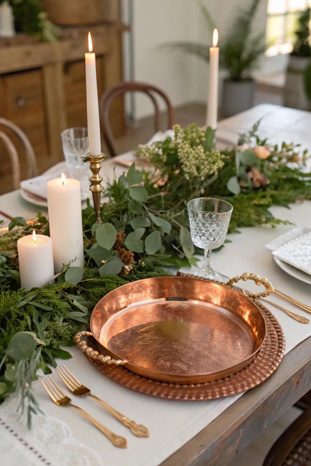
<svg viewBox="0 0 311 466"><path fill-rule="evenodd" d="M203 0L211 12L221 36L226 34L238 7L250 0ZM199 58L161 48L169 41L211 42L211 32L196 0L133 0L135 80L152 82L165 90L174 106L207 100L208 64ZM264 30L267 0L262 0L254 25ZM286 57L263 57L260 69L272 72L282 69ZM221 73L223 76L224 73ZM221 94L221 86L220 86ZM151 115L148 97L136 96L135 117Z"/></svg>

